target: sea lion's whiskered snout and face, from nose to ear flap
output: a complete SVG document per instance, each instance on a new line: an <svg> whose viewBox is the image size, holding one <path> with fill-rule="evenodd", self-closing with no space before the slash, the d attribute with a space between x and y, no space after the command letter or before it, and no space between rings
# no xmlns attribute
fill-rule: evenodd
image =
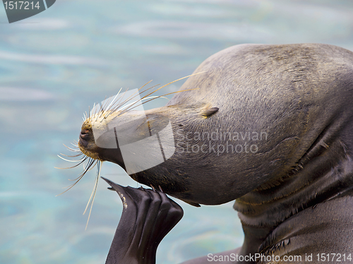
<svg viewBox="0 0 353 264"><path fill-rule="evenodd" d="M198 111L200 119L217 112L210 107L202 109L203 116ZM170 195L184 193L190 186L186 177L179 174L184 165L178 162L180 157L176 153L177 140L180 136L184 138L180 134L184 121L175 117L190 115L190 111L176 106L146 111L102 110L85 119L78 147L93 160L119 164L141 184Z"/></svg>

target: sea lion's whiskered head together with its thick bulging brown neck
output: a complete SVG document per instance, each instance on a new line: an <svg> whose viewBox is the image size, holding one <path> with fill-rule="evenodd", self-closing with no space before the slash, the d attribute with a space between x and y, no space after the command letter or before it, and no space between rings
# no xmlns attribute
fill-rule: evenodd
<svg viewBox="0 0 353 264"><path fill-rule="evenodd" d="M352 58L328 45L231 47L206 59L165 107L93 114L78 146L193 205L300 177L301 188L353 147Z"/></svg>

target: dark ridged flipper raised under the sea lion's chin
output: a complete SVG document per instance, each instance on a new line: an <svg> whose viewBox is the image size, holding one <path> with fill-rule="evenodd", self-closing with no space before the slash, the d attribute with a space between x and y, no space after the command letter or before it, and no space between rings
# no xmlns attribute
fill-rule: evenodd
<svg viewBox="0 0 353 264"><path fill-rule="evenodd" d="M157 246L181 220L182 208L161 191L104 180L124 205L106 263L155 263Z"/></svg>

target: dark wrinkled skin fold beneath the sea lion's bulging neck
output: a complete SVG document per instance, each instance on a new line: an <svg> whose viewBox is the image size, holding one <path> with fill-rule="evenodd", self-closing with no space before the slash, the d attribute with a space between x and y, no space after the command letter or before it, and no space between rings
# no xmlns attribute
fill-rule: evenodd
<svg viewBox="0 0 353 264"><path fill-rule="evenodd" d="M257 188L234 203L241 222L249 227L273 229L301 210L324 203L338 196L350 195L353 183L352 148L349 131L352 124L342 129L325 129L284 179L270 188ZM342 129L337 135L335 131ZM323 140L325 138L325 140ZM327 143L324 143L324 142Z"/></svg>

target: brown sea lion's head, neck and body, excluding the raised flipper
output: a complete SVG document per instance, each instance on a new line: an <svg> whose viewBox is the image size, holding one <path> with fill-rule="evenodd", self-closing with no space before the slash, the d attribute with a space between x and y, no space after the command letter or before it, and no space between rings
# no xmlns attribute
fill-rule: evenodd
<svg viewBox="0 0 353 264"><path fill-rule="evenodd" d="M237 199L243 246L187 263L349 263L353 53L328 44L241 44L195 73L165 107L107 107L90 116L80 150L192 205ZM143 147L125 148L138 142ZM119 254L108 263L121 263L126 246L114 245Z"/></svg>

